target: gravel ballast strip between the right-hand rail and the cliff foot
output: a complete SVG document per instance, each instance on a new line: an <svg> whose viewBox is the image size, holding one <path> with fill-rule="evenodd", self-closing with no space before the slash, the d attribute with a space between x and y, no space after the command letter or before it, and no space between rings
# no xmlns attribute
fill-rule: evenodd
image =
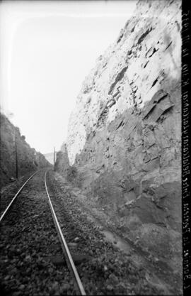
<svg viewBox="0 0 191 296"><path fill-rule="evenodd" d="M52 171L47 188L71 255L79 258L77 270L87 295L163 295L161 287L149 285L143 268L104 240Z"/></svg>

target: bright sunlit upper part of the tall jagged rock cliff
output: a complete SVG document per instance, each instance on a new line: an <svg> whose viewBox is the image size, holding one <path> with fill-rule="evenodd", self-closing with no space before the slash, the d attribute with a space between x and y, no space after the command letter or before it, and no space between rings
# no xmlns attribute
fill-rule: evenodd
<svg viewBox="0 0 191 296"><path fill-rule="evenodd" d="M123 114L129 121L134 116L142 119L146 102L157 91L171 95L171 105L165 100L162 108L172 109L181 75L180 5L181 1L140 1L116 43L99 57L69 121L70 163L94 131L103 131Z"/></svg>

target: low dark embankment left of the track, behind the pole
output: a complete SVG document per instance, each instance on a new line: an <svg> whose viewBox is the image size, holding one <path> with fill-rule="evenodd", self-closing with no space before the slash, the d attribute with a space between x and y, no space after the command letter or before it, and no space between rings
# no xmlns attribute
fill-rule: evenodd
<svg viewBox="0 0 191 296"><path fill-rule="evenodd" d="M0 116L0 177L2 187L16 178L16 153L18 158L18 177L39 168L45 168L50 163L48 163L44 155L36 152L34 148L30 148L25 141L25 136L21 136L18 127L13 126L4 114L0 114Z"/></svg>

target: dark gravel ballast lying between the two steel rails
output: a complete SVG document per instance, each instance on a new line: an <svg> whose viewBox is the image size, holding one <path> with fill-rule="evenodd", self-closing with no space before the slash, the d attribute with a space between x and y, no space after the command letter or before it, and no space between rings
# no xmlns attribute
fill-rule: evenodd
<svg viewBox="0 0 191 296"><path fill-rule="evenodd" d="M23 189L1 224L1 295L76 295L47 202L45 172Z"/></svg>

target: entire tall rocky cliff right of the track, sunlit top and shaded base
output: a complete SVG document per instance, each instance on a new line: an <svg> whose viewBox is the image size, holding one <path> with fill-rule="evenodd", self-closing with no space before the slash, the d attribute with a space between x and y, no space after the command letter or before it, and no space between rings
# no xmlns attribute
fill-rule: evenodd
<svg viewBox="0 0 191 296"><path fill-rule="evenodd" d="M181 1L139 1L83 82L57 170L181 273ZM68 178L68 179L69 179Z"/></svg>

